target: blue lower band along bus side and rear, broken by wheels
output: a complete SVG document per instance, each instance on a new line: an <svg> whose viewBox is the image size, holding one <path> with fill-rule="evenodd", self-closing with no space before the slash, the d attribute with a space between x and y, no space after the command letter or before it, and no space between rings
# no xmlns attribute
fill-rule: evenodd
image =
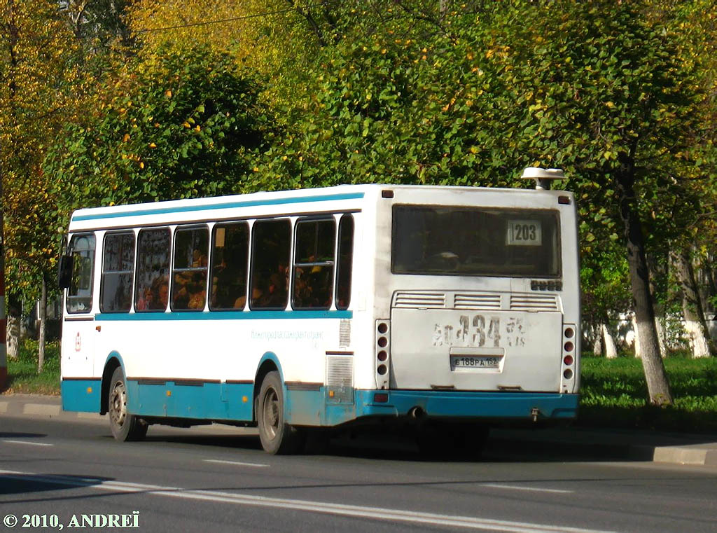
<svg viewBox="0 0 717 533"><path fill-rule="evenodd" d="M63 379L62 408L99 412L100 379ZM254 383L197 382L140 384L128 379L128 410L137 415L207 420L251 421ZM388 395L376 402L374 395ZM407 416L421 407L427 416L483 420L529 420L537 409L543 420L571 420L579 395L538 392L427 390L356 390L355 402L336 404L326 386L318 390L284 390L286 419L298 425L336 426L364 417Z"/></svg>

